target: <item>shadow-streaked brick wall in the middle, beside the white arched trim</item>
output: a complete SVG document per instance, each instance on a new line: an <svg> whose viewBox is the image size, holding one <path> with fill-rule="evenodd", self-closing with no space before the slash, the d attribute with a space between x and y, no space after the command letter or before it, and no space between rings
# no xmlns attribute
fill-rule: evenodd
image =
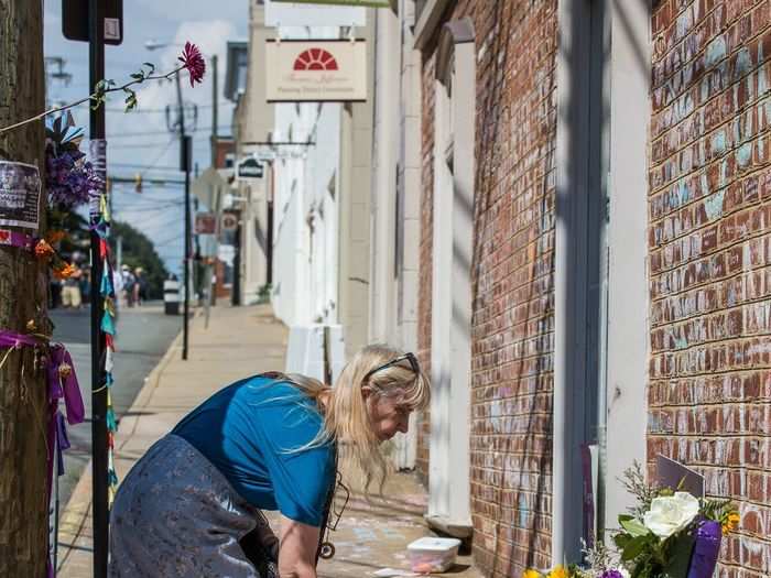
<svg viewBox="0 0 771 578"><path fill-rule="evenodd" d="M458 2L447 17L466 14L477 51L474 554L486 576L509 577L551 561L556 0ZM423 68L422 351L431 347L434 56L426 51Z"/></svg>

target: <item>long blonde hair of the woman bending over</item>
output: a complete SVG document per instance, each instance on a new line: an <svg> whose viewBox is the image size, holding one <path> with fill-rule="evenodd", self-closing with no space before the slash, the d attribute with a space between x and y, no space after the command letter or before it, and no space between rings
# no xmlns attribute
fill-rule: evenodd
<svg viewBox="0 0 771 578"><path fill-rule="evenodd" d="M334 388L306 375L265 373L268 378L293 383L305 396L317 402L324 417L324 427L300 450L334 441L340 457L359 470L365 490L369 489L373 479L378 480L382 489L388 462L381 441L372 429L362 390L365 385L371 388L372 395L369 399L399 395L400 405L411 411L426 408L431 402L428 380L422 371L415 374L408 360L379 369L367 377L370 371L403 355L403 351L388 345L369 345L343 368ZM325 395L328 395L326 405L321 402Z"/></svg>

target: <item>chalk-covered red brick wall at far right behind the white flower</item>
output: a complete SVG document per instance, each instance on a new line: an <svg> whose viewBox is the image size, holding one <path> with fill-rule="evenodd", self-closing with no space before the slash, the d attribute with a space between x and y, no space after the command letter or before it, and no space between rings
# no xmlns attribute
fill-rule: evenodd
<svg viewBox="0 0 771 578"><path fill-rule="evenodd" d="M651 21L648 454L740 505L721 577L771 575L770 4L667 0Z"/></svg>

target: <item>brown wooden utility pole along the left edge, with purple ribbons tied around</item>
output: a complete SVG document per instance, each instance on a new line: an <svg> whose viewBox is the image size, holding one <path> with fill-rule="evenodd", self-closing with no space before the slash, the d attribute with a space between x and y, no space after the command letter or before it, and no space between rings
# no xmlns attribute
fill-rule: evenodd
<svg viewBox="0 0 771 578"><path fill-rule="evenodd" d="M44 78L43 2L0 0L0 127L43 111ZM36 164L42 177L44 142L43 122L26 124L0 134L0 157ZM0 329L23 334L35 320L48 332L46 309L45 265L29 251L0 246ZM0 369L0 576L45 576L46 427L44 372L35 371L31 348L12 350Z"/></svg>

